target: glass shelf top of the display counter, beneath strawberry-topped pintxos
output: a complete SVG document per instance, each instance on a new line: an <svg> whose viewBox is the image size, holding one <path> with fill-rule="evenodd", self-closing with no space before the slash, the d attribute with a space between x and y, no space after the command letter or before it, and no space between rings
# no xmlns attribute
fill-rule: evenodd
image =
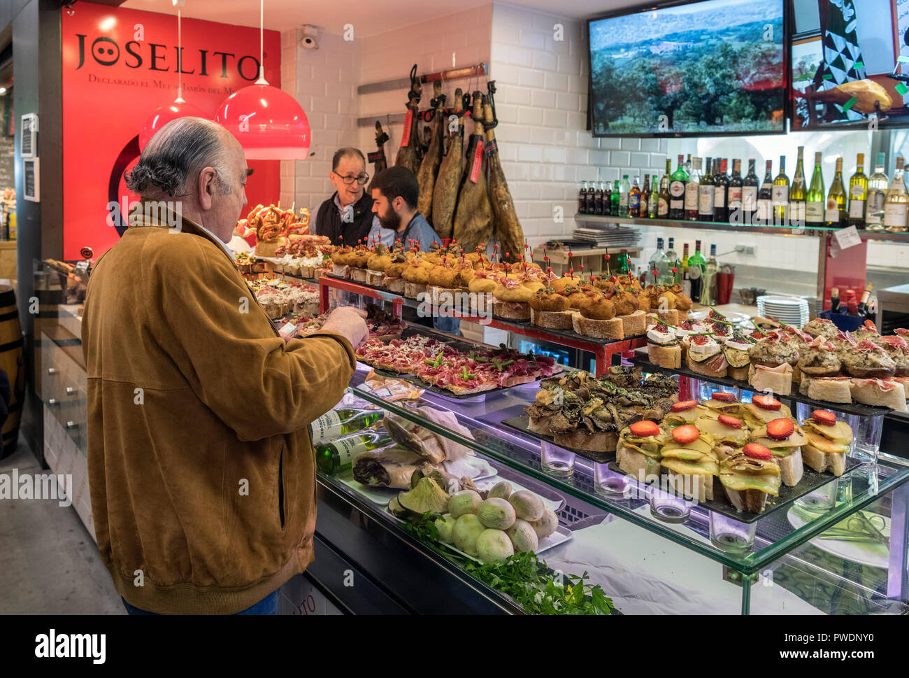
<svg viewBox="0 0 909 678"><path fill-rule="evenodd" d="M876 467L861 467L845 473L839 479L839 495L834 508L809 520L800 528L787 520L789 511L775 511L755 521L756 536L754 551L749 553L726 552L704 540L708 530L710 511L695 506L690 519L678 525L656 520L649 512L641 511L646 501L640 499L610 499L594 491L593 462L575 460L574 473L570 477L555 476L544 471L540 465L541 442L517 431L506 430L501 421L520 415L524 407L534 401L538 385L526 384L505 391L487 391L474 400L452 400L445 396L425 391L423 397L410 404L385 401L374 393L360 388L368 368L360 366L350 389L363 400L378 405L386 411L404 417L424 426L426 429L459 442L472 450L497 460L517 471L550 485L557 491L571 495L592 506L614 514L626 521L654 532L665 539L674 541L685 548L698 552L707 558L720 562L737 572L750 575L771 565L783 555L813 539L821 532L844 520L855 511L863 509L881 499L882 495L894 490L909 480L909 466L903 460L881 455ZM431 406L451 410L458 421L471 431L474 438L467 438L452 430L425 419L416 407ZM833 477L831 477L833 480ZM634 481L633 481L634 484ZM644 489L641 489L644 496ZM900 534L894 531L891 537L891 562L900 560L905 545ZM893 568L893 565L891 565Z"/></svg>

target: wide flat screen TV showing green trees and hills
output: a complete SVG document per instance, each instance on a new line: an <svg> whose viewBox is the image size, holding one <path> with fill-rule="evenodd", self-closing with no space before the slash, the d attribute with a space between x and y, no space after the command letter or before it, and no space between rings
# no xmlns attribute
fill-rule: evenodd
<svg viewBox="0 0 909 678"><path fill-rule="evenodd" d="M702 0L587 21L594 137L784 134L784 0Z"/></svg>

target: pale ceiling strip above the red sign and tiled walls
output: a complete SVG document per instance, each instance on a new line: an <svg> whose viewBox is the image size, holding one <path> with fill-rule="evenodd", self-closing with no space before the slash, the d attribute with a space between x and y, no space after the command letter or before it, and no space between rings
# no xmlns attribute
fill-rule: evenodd
<svg viewBox="0 0 909 678"><path fill-rule="evenodd" d="M358 35L368 37L489 4L490 0L459 0L454 5L439 0L345 0L339 3L265 0L265 28L285 31L292 26L313 24L329 33L341 34L343 26L350 23L355 25ZM512 0L506 4L554 14L552 0ZM569 0L559 7L561 12L558 15L581 19L634 5L641 5L641 1ZM176 7L171 0L126 0L121 6L176 15ZM185 0L183 15L225 24L255 26L259 25L259 3L257 0Z"/></svg>

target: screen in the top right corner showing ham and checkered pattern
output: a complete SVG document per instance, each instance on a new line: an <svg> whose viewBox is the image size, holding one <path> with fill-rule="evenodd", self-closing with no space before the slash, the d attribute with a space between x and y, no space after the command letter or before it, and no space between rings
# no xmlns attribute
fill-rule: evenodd
<svg viewBox="0 0 909 678"><path fill-rule="evenodd" d="M909 3L793 6L794 130L909 125Z"/></svg>

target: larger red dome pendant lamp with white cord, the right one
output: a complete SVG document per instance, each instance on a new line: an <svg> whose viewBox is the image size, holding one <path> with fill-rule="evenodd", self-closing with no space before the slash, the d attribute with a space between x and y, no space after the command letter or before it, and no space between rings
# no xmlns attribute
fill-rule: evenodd
<svg viewBox="0 0 909 678"><path fill-rule="evenodd" d="M225 126L248 159L303 160L309 155L309 120L293 96L265 80L265 0L259 0L259 79L228 96L215 122Z"/></svg>

